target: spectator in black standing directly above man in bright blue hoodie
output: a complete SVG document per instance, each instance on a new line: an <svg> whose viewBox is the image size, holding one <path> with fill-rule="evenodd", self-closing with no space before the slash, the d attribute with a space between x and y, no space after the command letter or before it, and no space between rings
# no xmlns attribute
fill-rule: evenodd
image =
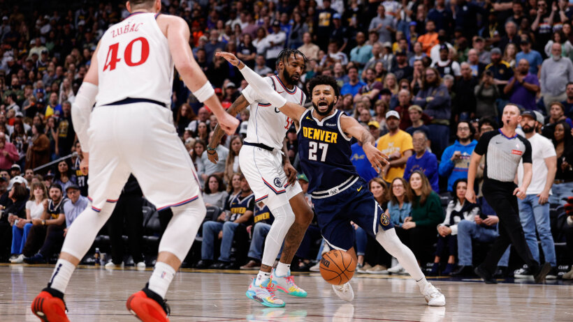
<svg viewBox="0 0 573 322"><path fill-rule="evenodd" d="M456 96L452 102L455 120L469 120L475 116L476 98L475 87L478 84L477 76L472 75L470 64L461 64L461 75L454 85Z"/></svg>

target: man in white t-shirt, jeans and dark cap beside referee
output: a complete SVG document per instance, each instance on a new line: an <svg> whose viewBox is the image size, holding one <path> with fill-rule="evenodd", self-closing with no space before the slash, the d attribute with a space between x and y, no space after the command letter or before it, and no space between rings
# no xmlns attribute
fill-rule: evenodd
<svg viewBox="0 0 573 322"><path fill-rule="evenodd" d="M551 194L551 185L555 179L557 169L557 156L555 148L549 139L535 132L537 121L535 113L525 111L521 114L521 129L523 135L531 144L532 172L531 183L527 190L527 197L518 199L519 220L525 233L525 240L533 258L539 262L539 247L535 231L539 233L541 246L545 261L551 263L551 272L547 275L548 279L557 277L557 260L555 254L555 245L551 235L551 224L549 222L549 194ZM517 178L519 185L523 180L523 163L519 164ZM516 278L526 278L532 275L529 268L523 267L515 271Z"/></svg>

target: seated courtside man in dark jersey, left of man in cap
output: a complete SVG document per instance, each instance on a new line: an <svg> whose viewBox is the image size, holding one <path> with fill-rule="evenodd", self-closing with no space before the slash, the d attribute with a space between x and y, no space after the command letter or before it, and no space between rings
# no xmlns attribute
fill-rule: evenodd
<svg viewBox="0 0 573 322"><path fill-rule="evenodd" d="M34 226L22 250L24 263L47 263L52 254L59 249L58 246L64 241L64 228L66 228L66 215L62 208L64 200L61 187L52 185L48 200L43 202L41 220L32 221Z"/></svg>

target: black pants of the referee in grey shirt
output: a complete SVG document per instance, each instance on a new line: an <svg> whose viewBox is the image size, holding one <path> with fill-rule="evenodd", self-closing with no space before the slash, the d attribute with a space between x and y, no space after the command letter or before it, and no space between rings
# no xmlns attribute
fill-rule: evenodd
<svg viewBox="0 0 573 322"><path fill-rule="evenodd" d="M500 218L498 224L500 236L493 242L484 263L481 263L481 267L491 274L495 273L498 261L500 261L509 244L514 245L517 254L528 264L534 274L539 270L539 263L533 259L531 251L525 242L525 235L519 221L517 197L513 195L515 188L515 183L491 179L486 179L481 187L481 193L484 194L486 201L488 201L488 204Z"/></svg>

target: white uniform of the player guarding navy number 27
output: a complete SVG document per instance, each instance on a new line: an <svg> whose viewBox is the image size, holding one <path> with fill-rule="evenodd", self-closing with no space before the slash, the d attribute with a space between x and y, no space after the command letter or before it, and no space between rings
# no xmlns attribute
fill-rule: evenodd
<svg viewBox="0 0 573 322"><path fill-rule="evenodd" d="M305 102L306 95L298 87L294 86L289 91L276 75L264 79L288 102L298 105ZM242 95L251 104L245 142L264 144L273 151L243 145L239 153L240 169L254 192L255 201L263 201L272 210L288 204L292 197L303 191L298 181L292 186L287 184L282 167L282 142L293 121L270 105L251 86L247 86Z"/></svg>

